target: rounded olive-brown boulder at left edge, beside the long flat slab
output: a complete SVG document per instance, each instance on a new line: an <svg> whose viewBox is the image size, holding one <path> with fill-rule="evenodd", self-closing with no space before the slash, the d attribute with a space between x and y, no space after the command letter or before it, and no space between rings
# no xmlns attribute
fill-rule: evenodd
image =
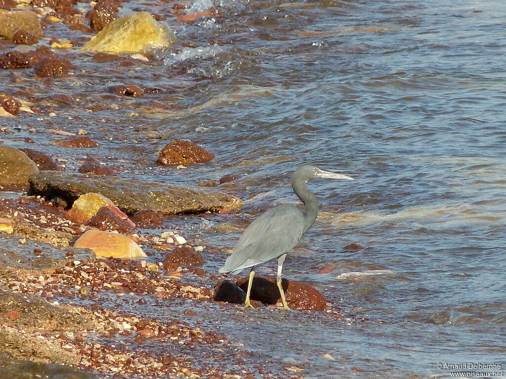
<svg viewBox="0 0 506 379"><path fill-rule="evenodd" d="M0 191L20 191L28 187L28 177L37 165L21 150L0 146Z"/></svg>

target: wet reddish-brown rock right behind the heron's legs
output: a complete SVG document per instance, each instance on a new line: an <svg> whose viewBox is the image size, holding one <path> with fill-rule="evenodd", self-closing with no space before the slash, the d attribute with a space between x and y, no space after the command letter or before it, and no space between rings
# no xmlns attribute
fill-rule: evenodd
<svg viewBox="0 0 506 379"><path fill-rule="evenodd" d="M248 287L248 277L241 279L237 285L246 291ZM313 286L300 281L282 279L281 286L286 297L286 303L291 308L301 308L306 310L325 310L325 297ZM281 302L276 279L271 277L256 275L253 278L250 293L251 300L258 300L266 304L276 304Z"/></svg>

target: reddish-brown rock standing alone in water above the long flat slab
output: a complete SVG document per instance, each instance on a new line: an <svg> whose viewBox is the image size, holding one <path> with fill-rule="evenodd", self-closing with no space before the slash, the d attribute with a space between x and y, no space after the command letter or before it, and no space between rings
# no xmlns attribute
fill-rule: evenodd
<svg viewBox="0 0 506 379"><path fill-rule="evenodd" d="M207 163L215 156L187 139L176 139L165 145L158 157L158 163L165 166L191 163Z"/></svg>

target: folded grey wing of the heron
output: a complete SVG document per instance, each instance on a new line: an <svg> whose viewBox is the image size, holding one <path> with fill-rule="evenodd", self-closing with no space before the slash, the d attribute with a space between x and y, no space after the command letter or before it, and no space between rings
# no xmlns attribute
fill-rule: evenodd
<svg viewBox="0 0 506 379"><path fill-rule="evenodd" d="M301 239L304 215L290 204L282 204L255 219L244 230L234 252L220 272L240 271L289 252Z"/></svg>

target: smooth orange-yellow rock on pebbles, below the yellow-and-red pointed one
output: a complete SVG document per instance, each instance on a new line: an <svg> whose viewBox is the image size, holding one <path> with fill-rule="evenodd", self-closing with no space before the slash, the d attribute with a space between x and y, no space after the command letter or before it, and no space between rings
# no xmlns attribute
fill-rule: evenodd
<svg viewBox="0 0 506 379"><path fill-rule="evenodd" d="M97 229L88 230L82 234L74 247L91 249L99 257L123 259L147 257L141 247L127 236Z"/></svg>

